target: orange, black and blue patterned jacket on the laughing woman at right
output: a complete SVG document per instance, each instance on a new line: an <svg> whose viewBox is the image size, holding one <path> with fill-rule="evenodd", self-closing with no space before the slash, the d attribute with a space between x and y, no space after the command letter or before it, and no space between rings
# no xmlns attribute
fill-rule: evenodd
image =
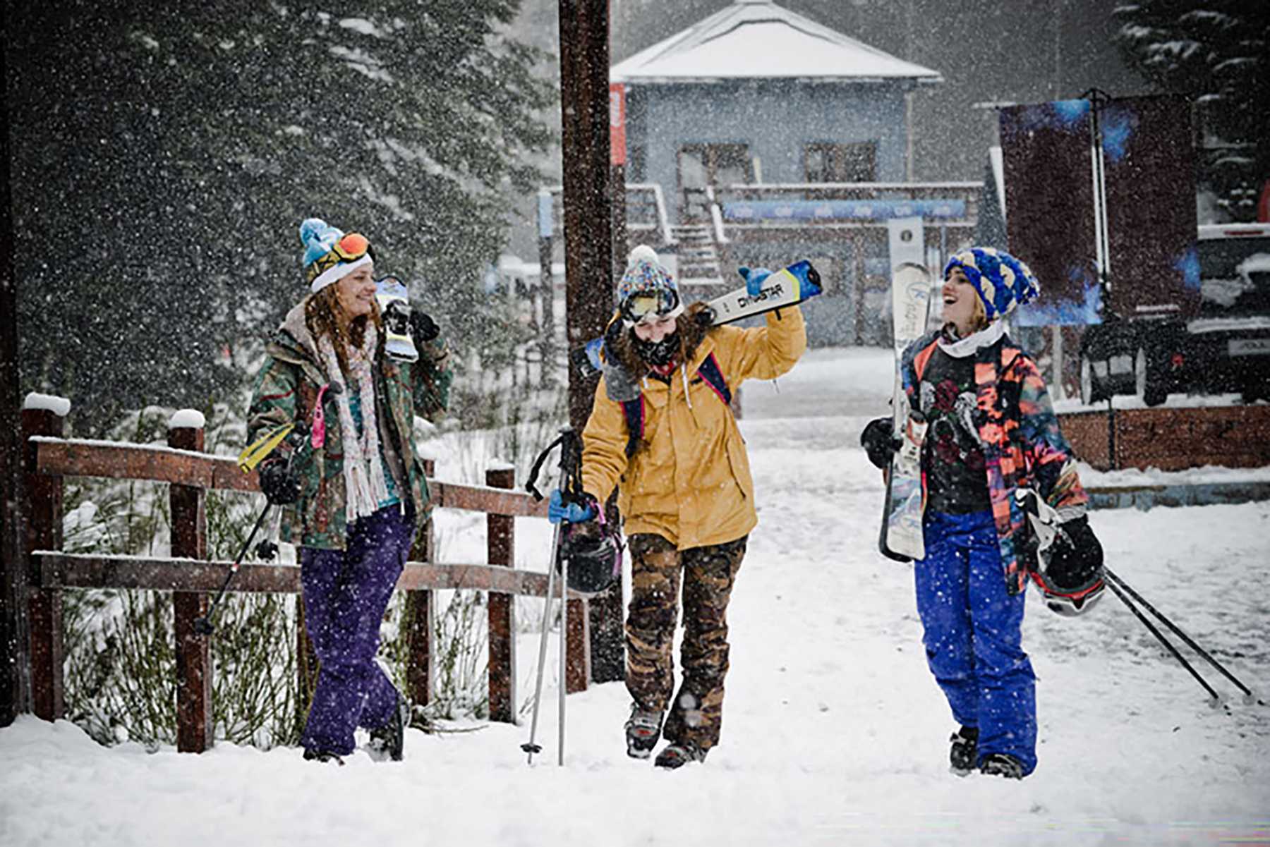
<svg viewBox="0 0 1270 847"><path fill-rule="evenodd" d="M928 333L913 342L900 358L904 392L913 409L922 409L922 373L937 344L939 331ZM1076 472L1072 448L1058 428L1045 381L1031 357L1008 335L1002 335L974 353L974 425L983 447L1001 565L1007 589L1017 594L1026 587L1027 574L1015 552L1015 537L1026 518L1015 502L1015 489L1035 489L1058 510L1060 521L1085 514L1088 495ZM930 448L931 443L925 447ZM922 462L923 502L928 452L923 452Z"/></svg>

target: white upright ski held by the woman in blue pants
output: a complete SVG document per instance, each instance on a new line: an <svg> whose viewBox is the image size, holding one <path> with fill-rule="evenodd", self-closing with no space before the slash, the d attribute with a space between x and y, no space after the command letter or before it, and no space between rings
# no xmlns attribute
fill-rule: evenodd
<svg viewBox="0 0 1270 847"><path fill-rule="evenodd" d="M895 344L895 386L892 397L893 436L899 448L886 470L886 500L883 505L878 547L897 561L926 557L922 536L922 441L926 420L909 409L904 394L900 358L904 349L926 331L931 305L931 274L919 264L904 263L890 278L892 325Z"/></svg>

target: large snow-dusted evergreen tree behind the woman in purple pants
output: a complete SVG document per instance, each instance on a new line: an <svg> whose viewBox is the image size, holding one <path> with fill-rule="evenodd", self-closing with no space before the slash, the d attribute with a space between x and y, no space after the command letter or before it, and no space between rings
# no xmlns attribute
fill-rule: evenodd
<svg viewBox="0 0 1270 847"><path fill-rule="evenodd" d="M206 405L305 287L298 223L367 234L460 343L551 133L519 0L88 0L17 11L8 104L25 389L93 432Z"/></svg>

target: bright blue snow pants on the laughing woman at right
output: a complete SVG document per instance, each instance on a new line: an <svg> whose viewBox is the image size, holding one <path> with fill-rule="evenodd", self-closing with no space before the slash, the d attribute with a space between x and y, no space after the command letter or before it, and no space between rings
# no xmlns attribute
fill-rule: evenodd
<svg viewBox="0 0 1270 847"><path fill-rule="evenodd" d="M979 728L979 758L1008 753L1036 767L1036 677L1022 650L1024 598L1011 597L992 512L927 513L916 563L926 660L952 717Z"/></svg>

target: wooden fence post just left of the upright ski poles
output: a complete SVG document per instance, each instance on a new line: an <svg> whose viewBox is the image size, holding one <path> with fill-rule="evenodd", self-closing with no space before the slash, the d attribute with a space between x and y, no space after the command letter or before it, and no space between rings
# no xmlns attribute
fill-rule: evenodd
<svg viewBox="0 0 1270 847"><path fill-rule="evenodd" d="M485 471L485 485L513 488L514 467ZM489 564L516 566L516 518L485 516ZM489 592L489 719L516 723L516 597Z"/></svg>

